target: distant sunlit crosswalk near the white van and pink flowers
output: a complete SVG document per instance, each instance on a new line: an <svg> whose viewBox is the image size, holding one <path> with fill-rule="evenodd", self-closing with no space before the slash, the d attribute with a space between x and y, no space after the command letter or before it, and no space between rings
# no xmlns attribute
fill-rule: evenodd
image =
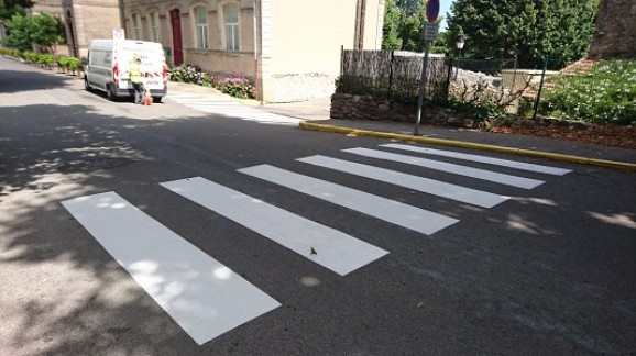
<svg viewBox="0 0 636 356"><path fill-rule="evenodd" d="M169 100L202 112L232 116L235 119L254 121L263 124L298 126L298 123L301 121L300 119L278 115L235 101L209 100L202 96L178 93L169 94L168 98Z"/></svg>

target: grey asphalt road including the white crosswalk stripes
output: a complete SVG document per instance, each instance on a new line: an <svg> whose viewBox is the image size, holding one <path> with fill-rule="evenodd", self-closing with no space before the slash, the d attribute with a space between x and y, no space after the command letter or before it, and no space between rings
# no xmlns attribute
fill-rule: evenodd
<svg viewBox="0 0 636 356"><path fill-rule="evenodd" d="M0 58L0 355L636 353L633 173L173 99Z"/></svg>

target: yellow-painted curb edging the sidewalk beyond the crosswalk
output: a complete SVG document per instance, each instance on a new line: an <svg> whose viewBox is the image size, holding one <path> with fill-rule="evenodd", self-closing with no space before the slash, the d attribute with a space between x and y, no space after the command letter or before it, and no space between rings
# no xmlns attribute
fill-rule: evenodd
<svg viewBox="0 0 636 356"><path fill-rule="evenodd" d="M506 147L506 146L495 146L495 145L479 144L479 143L454 141L454 140L447 140L447 138L410 136L410 135L395 134L395 133L388 133L388 132L376 132L376 131L360 130L360 129L340 127L340 126L332 126L332 125L325 125L325 124L316 124L316 123L310 123L310 122L306 122L306 121L301 121L298 124L298 126L300 129L307 130L307 131L321 131L321 132L350 134L350 135L358 135L358 136L391 138L391 140L416 142L416 143L423 143L423 144L434 144L434 145L450 146L450 147L482 149L482 151L505 153L505 154L511 154L511 155L519 155L519 156L527 156L527 157L535 157L535 158L546 158L546 159L551 159L551 160L574 163L574 164L580 164L580 165L591 165L591 166L600 166L600 167L607 167L607 168L616 168L616 169L628 170L628 171L636 171L636 164L626 163L626 162L589 158L589 157L582 157L582 156L563 155L563 154L557 154L557 153L550 153L550 152L530 151L530 149L514 148L514 147Z"/></svg>

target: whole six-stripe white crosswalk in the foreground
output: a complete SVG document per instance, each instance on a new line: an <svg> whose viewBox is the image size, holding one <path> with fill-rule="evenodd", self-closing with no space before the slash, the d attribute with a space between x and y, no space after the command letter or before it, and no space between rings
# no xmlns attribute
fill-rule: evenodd
<svg viewBox="0 0 636 356"><path fill-rule="evenodd" d="M508 197L426 176L441 170L462 177L469 186L471 180L479 179L482 185L478 186L483 187L486 182L493 191L497 186L504 186L523 193L547 183L550 176L563 176L570 171L403 144L379 145L373 149L347 148L340 156L347 159L314 155L296 160L325 173L337 170L485 209L505 202ZM437 157L453 163L437 160ZM366 164L357 162L361 159ZM380 166L387 160L397 163L392 167L408 167L410 174ZM463 162L471 163L471 166L463 165ZM476 168L475 164L482 168ZM498 173L497 167L516 174ZM414 175L414 171L418 174ZM544 175L541 178L546 180L523 177L528 173L534 177ZM342 181L341 175L325 180L268 164L241 168L237 174L254 178L255 183L273 183L299 197L310 197L301 200L308 204L318 199L423 235L436 234L461 223L461 216L447 216L432 211L432 207L416 207L352 188L348 180ZM160 187L165 188L163 191L166 193L175 193L210 214L224 216L234 222L237 229L251 230L337 276L352 274L391 253L388 242L375 246L205 177L185 177L161 182ZM117 192L79 197L62 204L199 345L285 302L270 297L216 259L223 256L202 252Z"/></svg>

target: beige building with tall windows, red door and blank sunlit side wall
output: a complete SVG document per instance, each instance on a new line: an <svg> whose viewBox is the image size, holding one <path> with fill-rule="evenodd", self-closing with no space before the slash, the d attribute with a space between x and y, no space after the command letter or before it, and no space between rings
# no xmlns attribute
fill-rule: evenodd
<svg viewBox="0 0 636 356"><path fill-rule="evenodd" d="M380 49L384 0L122 0L128 38L172 65L248 77L264 102L327 98L341 48Z"/></svg>

